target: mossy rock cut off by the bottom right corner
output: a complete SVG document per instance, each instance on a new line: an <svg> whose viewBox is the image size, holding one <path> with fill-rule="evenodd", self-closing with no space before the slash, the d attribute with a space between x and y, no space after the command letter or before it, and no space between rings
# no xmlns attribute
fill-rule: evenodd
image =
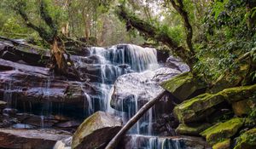
<svg viewBox="0 0 256 149"><path fill-rule="evenodd" d="M256 148L256 128L249 129L240 135L234 149L253 149Z"/></svg>

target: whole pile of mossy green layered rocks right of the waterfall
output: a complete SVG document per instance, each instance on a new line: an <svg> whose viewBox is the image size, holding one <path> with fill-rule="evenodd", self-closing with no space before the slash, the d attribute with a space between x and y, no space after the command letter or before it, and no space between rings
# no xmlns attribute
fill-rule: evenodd
<svg viewBox="0 0 256 149"><path fill-rule="evenodd" d="M188 98L173 109L180 123L176 129L178 134L204 136L214 149L255 146L255 84L217 93L207 90L209 93L197 95L203 85L191 74L183 73L162 85L179 100Z"/></svg>

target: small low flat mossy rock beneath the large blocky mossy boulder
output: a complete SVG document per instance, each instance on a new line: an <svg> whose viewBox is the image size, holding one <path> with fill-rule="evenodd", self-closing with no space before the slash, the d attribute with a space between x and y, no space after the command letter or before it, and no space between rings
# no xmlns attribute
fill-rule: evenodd
<svg viewBox="0 0 256 149"><path fill-rule="evenodd" d="M179 135L199 135L203 130L211 127L210 123L181 123L178 125L176 132Z"/></svg>

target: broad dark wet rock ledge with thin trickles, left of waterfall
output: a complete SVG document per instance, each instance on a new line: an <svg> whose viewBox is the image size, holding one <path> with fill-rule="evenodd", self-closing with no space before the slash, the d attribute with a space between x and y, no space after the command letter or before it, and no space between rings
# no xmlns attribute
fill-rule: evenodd
<svg viewBox="0 0 256 149"><path fill-rule="evenodd" d="M83 114L84 100L97 94L93 84L63 80L50 74L48 68L9 60L0 59L0 76L0 99L34 113L42 112L44 104L58 111L61 104L65 114Z"/></svg>

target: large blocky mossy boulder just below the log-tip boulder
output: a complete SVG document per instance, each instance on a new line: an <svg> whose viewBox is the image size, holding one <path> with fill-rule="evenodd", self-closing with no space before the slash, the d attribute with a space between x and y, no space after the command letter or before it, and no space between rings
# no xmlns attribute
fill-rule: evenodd
<svg viewBox="0 0 256 149"><path fill-rule="evenodd" d="M222 102L224 98L221 95L199 95L175 106L173 112L180 123L192 123L212 114L215 111L214 106Z"/></svg>

